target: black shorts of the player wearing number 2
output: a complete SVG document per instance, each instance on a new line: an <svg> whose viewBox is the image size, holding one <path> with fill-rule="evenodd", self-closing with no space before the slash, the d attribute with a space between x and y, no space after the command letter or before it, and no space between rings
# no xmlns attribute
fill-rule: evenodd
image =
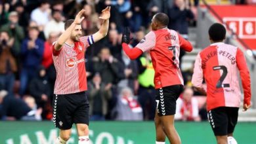
<svg viewBox="0 0 256 144"><path fill-rule="evenodd" d="M214 135L228 135L234 132L238 122L238 107L217 107L207 112Z"/></svg>

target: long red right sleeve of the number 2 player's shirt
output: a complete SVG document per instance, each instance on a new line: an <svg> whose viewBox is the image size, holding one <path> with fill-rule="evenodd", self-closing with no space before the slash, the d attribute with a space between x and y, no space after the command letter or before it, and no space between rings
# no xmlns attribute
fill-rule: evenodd
<svg viewBox="0 0 256 144"><path fill-rule="evenodd" d="M240 71L242 86L244 88L244 103L250 105L251 103L251 78L249 69L246 64L243 52L238 48L236 52L236 65Z"/></svg>

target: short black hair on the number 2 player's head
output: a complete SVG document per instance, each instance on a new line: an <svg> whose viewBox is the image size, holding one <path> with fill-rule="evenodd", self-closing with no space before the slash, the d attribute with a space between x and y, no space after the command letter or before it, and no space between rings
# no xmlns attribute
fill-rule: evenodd
<svg viewBox="0 0 256 144"><path fill-rule="evenodd" d="M222 24L215 23L209 27L209 37L213 41L223 41L226 37L226 29Z"/></svg>

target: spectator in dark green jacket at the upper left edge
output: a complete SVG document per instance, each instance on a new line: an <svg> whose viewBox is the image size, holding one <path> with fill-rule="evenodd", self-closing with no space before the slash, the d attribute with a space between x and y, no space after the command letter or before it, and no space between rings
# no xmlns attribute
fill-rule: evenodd
<svg viewBox="0 0 256 144"><path fill-rule="evenodd" d="M1 27L1 31L7 31L10 37L14 38L14 45L12 46L12 52L14 56L20 54L20 46L24 39L24 30L18 25L18 12L12 11L9 14L9 23Z"/></svg>

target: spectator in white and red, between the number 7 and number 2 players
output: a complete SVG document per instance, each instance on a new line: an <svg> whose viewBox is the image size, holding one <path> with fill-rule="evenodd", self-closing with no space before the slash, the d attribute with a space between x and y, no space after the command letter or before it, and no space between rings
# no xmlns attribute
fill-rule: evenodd
<svg viewBox="0 0 256 144"><path fill-rule="evenodd" d="M193 95L192 88L186 88L177 99L175 120L200 121L198 100Z"/></svg>

